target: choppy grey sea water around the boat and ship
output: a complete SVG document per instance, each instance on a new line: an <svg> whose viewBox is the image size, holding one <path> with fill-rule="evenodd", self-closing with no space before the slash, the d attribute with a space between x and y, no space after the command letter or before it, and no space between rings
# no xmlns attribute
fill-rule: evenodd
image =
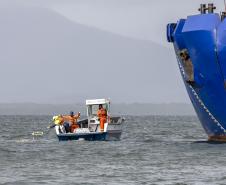
<svg viewBox="0 0 226 185"><path fill-rule="evenodd" d="M0 184L226 184L226 144L196 117L125 118L121 141L59 142L50 116L0 116Z"/></svg>

